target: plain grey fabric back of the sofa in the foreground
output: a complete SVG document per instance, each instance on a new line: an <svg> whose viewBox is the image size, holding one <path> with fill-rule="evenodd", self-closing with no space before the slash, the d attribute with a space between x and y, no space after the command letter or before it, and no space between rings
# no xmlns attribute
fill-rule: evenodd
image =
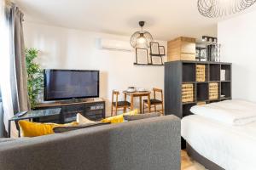
<svg viewBox="0 0 256 170"><path fill-rule="evenodd" d="M179 170L180 120L159 116L0 143L1 170Z"/></svg>

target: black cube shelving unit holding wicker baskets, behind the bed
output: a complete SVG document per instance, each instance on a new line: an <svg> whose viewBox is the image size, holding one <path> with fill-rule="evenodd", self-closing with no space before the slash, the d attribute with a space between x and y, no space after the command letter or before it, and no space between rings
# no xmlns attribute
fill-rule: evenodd
<svg viewBox="0 0 256 170"><path fill-rule="evenodd" d="M205 65L206 81L196 82L196 65ZM193 105L199 102L218 102L231 99L231 63L205 61L172 61L165 63L165 113L180 118L189 116ZM220 80L220 72L225 70L225 80ZM209 83L218 83L218 99L209 99ZM192 83L194 100L182 102L183 83ZM224 97L221 97L225 95Z"/></svg>

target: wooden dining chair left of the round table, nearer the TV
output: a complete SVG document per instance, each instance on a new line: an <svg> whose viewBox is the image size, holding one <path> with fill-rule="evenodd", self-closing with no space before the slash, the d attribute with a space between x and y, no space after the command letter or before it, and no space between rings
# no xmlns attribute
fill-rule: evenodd
<svg viewBox="0 0 256 170"><path fill-rule="evenodd" d="M114 101L115 98L115 101ZM126 101L126 95L125 100L119 101L119 91L113 90L112 91L112 103L111 103L111 116L113 116L113 112L115 112L115 115L117 115L118 111L126 112L126 109L131 109L131 103Z"/></svg>

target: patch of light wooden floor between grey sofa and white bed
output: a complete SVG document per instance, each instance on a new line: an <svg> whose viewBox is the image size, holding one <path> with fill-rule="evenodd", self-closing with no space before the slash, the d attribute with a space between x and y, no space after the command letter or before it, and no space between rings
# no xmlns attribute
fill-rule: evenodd
<svg viewBox="0 0 256 170"><path fill-rule="evenodd" d="M181 170L206 170L201 164L193 161L185 150L181 151Z"/></svg>

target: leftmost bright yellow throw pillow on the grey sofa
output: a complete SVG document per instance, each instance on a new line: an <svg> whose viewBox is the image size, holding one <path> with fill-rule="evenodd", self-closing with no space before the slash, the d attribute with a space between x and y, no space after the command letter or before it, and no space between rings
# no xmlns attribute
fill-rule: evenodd
<svg viewBox="0 0 256 170"><path fill-rule="evenodd" d="M40 123L40 122L28 122L19 121L20 126L20 136L21 137L36 137L43 136L46 134L54 133L54 127L66 127L66 126L76 126L78 122L71 122L67 124L56 124L56 123Z"/></svg>

